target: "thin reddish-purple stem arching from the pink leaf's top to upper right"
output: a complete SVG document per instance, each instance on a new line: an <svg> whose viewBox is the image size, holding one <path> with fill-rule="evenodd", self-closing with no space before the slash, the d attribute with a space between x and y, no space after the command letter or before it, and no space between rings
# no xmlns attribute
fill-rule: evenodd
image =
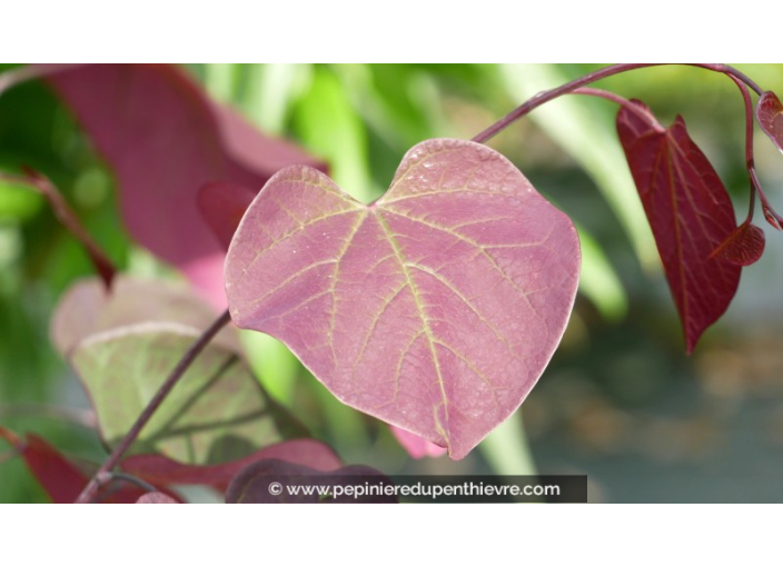
<svg viewBox="0 0 783 567"><path fill-rule="evenodd" d="M575 79L571 82L567 82L565 84L562 84L559 87L556 87L551 90L542 91L532 99L529 99L527 102L524 102L516 109L512 110L508 115L506 115L504 118L492 125L489 128L484 130L483 132L479 132L478 135L474 136L472 138L472 141L478 142L478 143L484 143L494 136L496 136L498 132L502 130L506 129L508 126L531 112L532 110L535 110L536 108L541 107L545 102L549 102L551 100L556 99L557 97L561 97L563 94L567 94L569 92L575 91L576 89L584 87L585 84L589 84L595 81L599 81L601 79L606 79L607 77L613 77L615 74L624 73L626 71L634 71L636 69L644 69L647 67L658 67L658 66L664 66L664 64L684 64L688 67L698 67L702 69L708 69L711 71L720 72L723 74L727 74L730 77L733 77L735 79L741 80L745 84L747 84L751 89L753 89L755 92L757 92L760 96L764 92L761 87L759 87L753 80L751 80L745 73L734 69L733 67L730 67L727 64L723 63L620 63L620 64L613 64L611 67L606 67L604 69L599 69L595 72L592 72L589 74L585 74L584 77L581 77L578 79Z"/></svg>

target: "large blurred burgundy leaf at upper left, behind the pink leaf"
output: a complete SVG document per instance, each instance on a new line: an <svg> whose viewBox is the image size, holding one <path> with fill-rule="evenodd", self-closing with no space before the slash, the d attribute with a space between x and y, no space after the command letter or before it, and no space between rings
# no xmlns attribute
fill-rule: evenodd
<svg viewBox="0 0 783 567"><path fill-rule="evenodd" d="M201 186L258 189L285 166L324 167L209 100L175 66L83 66L48 81L113 168L130 233L201 286L212 284L222 258L196 206Z"/></svg>

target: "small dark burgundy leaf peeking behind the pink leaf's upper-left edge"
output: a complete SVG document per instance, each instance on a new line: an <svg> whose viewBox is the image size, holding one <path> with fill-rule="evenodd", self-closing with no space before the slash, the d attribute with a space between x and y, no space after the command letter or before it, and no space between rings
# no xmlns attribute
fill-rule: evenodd
<svg viewBox="0 0 783 567"><path fill-rule="evenodd" d="M198 208L225 250L231 243L239 221L256 197L256 191L237 183L207 183L198 191Z"/></svg>

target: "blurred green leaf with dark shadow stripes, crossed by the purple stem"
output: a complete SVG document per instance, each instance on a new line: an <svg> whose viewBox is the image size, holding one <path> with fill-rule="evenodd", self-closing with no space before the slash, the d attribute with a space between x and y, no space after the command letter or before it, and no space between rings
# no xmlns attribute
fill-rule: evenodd
<svg viewBox="0 0 783 567"><path fill-rule="evenodd" d="M174 324L140 324L92 335L73 350L73 367L109 445L126 435L199 332ZM301 426L268 398L232 350L210 344L152 416L131 451L212 465L305 435Z"/></svg>

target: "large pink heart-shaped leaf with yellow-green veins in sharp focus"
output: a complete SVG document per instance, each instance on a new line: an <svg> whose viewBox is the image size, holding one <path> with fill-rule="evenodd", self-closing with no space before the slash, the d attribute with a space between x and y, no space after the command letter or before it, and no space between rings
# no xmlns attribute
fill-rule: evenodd
<svg viewBox="0 0 783 567"><path fill-rule="evenodd" d="M231 317L345 404L463 458L525 399L576 294L571 220L506 158L428 140L370 206L278 172L226 259Z"/></svg>

